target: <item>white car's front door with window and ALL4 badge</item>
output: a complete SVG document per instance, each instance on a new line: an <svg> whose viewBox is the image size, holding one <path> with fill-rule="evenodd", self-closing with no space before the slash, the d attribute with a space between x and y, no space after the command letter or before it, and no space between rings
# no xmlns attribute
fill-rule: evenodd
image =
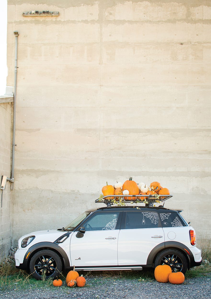
<svg viewBox="0 0 211 299"><path fill-rule="evenodd" d="M70 240L72 266L117 265L117 241L122 212L97 212L83 223L85 234Z"/></svg>

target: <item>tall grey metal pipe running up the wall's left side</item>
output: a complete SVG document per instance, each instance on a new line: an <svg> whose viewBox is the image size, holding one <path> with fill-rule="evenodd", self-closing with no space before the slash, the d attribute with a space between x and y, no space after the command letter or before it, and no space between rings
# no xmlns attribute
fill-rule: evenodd
<svg viewBox="0 0 211 299"><path fill-rule="evenodd" d="M13 147L12 147L12 166L10 182L14 182L14 163L15 163L15 121L16 121L16 87L17 87L17 60L18 60L18 31L13 32L15 35L15 78L14 78L14 101L13 101ZM13 190L13 184L11 184Z"/></svg>

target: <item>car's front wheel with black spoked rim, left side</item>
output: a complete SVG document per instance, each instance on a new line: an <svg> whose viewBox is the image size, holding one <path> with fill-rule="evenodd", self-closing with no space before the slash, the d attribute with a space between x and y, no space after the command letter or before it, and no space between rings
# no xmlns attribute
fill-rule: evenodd
<svg viewBox="0 0 211 299"><path fill-rule="evenodd" d="M62 271L62 260L59 255L52 250L38 251L30 260L30 273L37 280L44 278L56 278Z"/></svg>

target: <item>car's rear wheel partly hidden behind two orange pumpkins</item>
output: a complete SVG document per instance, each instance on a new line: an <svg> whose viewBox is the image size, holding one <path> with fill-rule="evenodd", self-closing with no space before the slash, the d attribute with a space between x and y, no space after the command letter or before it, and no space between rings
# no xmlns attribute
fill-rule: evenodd
<svg viewBox="0 0 211 299"><path fill-rule="evenodd" d="M187 271L187 260L184 254L176 249L166 249L161 251L155 258L155 267L158 265L168 265L172 268L172 272Z"/></svg>

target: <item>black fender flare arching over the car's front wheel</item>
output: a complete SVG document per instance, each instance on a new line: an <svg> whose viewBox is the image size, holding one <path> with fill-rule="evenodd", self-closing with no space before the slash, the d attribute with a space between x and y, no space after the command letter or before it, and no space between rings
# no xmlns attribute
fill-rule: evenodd
<svg viewBox="0 0 211 299"><path fill-rule="evenodd" d="M37 251L39 251L39 249L42 250L45 248L52 249L53 251L58 252L63 259L65 269L70 267L70 261L64 249L52 242L39 242L31 246L25 254L24 261L29 261L33 256L33 253L36 253Z"/></svg>

